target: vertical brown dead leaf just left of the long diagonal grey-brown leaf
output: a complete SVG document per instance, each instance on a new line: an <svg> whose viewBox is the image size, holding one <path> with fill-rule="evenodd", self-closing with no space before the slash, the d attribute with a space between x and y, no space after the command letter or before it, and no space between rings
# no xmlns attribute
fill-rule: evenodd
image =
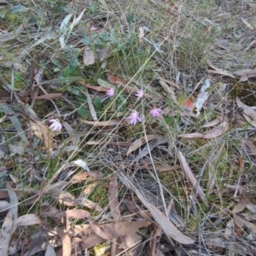
<svg viewBox="0 0 256 256"><path fill-rule="evenodd" d="M111 177L108 189L108 201L109 208L112 213L113 219L115 221L121 220L121 213L119 210L119 200L118 200L118 182L116 175Z"/></svg>

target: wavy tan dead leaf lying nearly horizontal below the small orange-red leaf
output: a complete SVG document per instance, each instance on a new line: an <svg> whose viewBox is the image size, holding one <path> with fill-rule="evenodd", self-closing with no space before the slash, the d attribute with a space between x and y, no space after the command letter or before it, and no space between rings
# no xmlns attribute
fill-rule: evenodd
<svg viewBox="0 0 256 256"><path fill-rule="evenodd" d="M177 137L187 137L187 138L200 137L204 139L211 139L211 138L216 138L221 136L222 134L224 134L225 131L228 131L228 128L229 128L229 124L227 122L223 122L217 127L212 128L212 130L207 131L206 134L195 132L195 133L181 134L181 135L178 135Z"/></svg>

